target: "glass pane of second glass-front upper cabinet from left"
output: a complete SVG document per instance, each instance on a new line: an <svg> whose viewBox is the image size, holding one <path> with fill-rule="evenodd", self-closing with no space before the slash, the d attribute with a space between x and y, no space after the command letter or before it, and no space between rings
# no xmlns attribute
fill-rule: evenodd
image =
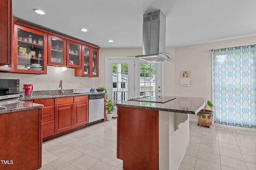
<svg viewBox="0 0 256 170"><path fill-rule="evenodd" d="M64 63L64 42L51 38L51 61Z"/></svg>

